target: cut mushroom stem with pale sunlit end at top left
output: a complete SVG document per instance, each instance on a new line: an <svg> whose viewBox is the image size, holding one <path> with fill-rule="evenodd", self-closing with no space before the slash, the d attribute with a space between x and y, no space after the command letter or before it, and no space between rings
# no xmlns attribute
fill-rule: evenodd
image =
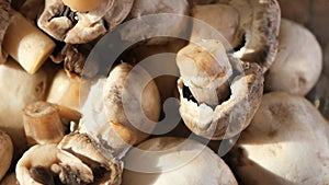
<svg viewBox="0 0 329 185"><path fill-rule="evenodd" d="M29 73L35 73L56 45L19 12L11 10L10 15L11 21L3 38L3 48Z"/></svg>

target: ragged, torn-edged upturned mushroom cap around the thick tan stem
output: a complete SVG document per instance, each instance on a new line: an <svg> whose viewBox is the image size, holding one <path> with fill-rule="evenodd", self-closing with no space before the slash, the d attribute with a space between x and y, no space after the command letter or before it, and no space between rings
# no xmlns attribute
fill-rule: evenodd
<svg viewBox="0 0 329 185"><path fill-rule="evenodd" d="M251 122L263 93L263 74L257 63L230 57L235 70L242 70L229 84L231 95L214 108L184 96L183 81L178 81L180 113L184 124L196 135L220 140L240 134Z"/></svg>

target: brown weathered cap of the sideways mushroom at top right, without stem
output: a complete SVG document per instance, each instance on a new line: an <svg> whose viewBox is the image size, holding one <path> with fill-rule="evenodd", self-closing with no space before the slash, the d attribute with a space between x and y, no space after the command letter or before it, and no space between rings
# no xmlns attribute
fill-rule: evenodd
<svg viewBox="0 0 329 185"><path fill-rule="evenodd" d="M246 44L235 53L235 56L242 61L259 63L265 72L274 61L277 51L281 20L277 1L231 0L228 3L238 10L240 27L245 31Z"/></svg>

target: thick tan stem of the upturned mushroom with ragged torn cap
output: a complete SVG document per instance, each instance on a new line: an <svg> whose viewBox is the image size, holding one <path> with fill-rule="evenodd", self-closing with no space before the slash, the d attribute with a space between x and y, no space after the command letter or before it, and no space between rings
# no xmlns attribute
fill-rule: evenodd
<svg viewBox="0 0 329 185"><path fill-rule="evenodd" d="M219 41L200 41L178 53L181 78L198 103L218 105L229 94L232 73L226 50Z"/></svg>

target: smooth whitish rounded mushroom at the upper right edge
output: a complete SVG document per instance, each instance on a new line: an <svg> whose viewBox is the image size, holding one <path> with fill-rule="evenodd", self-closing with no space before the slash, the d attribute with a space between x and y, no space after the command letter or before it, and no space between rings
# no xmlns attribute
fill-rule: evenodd
<svg viewBox="0 0 329 185"><path fill-rule="evenodd" d="M322 53L316 37L302 25L282 19L279 51L265 73L265 90L306 95L321 70Z"/></svg>

